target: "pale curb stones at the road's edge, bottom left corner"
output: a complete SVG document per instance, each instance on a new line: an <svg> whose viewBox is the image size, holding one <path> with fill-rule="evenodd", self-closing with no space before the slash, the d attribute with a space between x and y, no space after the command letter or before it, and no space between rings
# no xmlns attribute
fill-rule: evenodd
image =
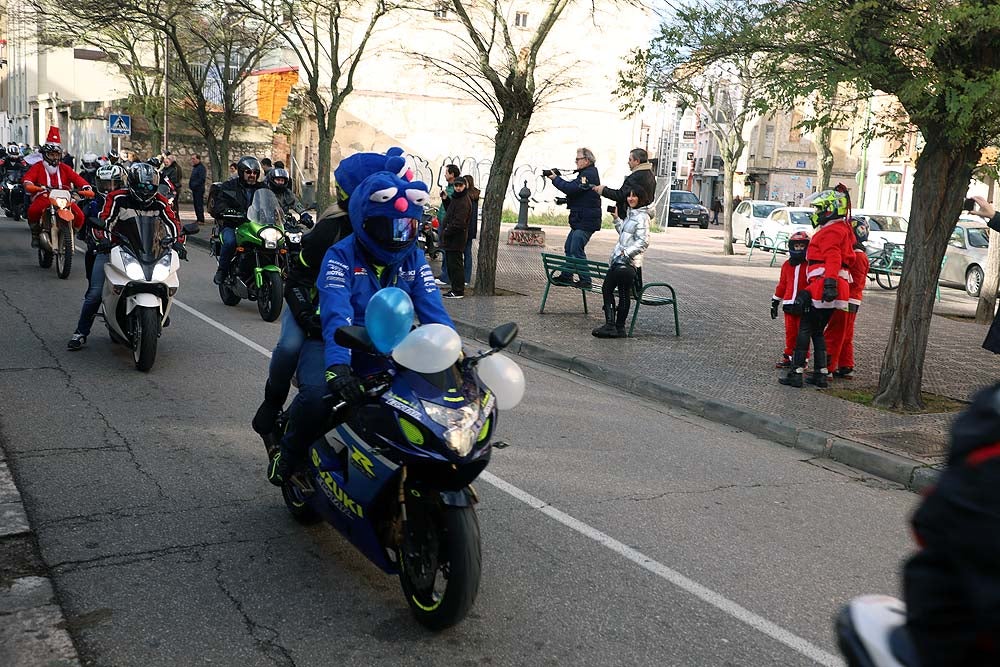
<svg viewBox="0 0 1000 667"><path fill-rule="evenodd" d="M0 545L31 535L21 493L0 450ZM0 582L0 664L79 667L66 618L47 577Z"/></svg>

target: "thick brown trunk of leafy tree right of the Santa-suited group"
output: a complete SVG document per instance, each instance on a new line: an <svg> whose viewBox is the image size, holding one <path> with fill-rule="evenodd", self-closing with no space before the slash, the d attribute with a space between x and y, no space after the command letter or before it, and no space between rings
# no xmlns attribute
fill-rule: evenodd
<svg viewBox="0 0 1000 667"><path fill-rule="evenodd" d="M906 261L875 395L875 405L882 408L923 405L924 356L941 260L980 151L978 144L949 144L943 132L921 131L929 139L914 173Z"/></svg>

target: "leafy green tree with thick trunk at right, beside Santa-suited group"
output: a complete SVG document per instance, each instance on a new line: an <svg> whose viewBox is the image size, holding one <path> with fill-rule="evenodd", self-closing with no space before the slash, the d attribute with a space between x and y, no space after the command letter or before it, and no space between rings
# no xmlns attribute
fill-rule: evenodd
<svg viewBox="0 0 1000 667"><path fill-rule="evenodd" d="M708 0L760 13L704 43L701 58L764 57L769 84L807 97L831 82L894 95L923 137L906 264L882 360L876 405L918 409L935 287L982 149L1000 136L1000 4L996 0Z"/></svg>

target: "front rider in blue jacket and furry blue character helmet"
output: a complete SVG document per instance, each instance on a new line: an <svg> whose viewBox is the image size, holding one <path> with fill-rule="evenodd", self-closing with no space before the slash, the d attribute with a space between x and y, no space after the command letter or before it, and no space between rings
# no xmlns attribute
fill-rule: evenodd
<svg viewBox="0 0 1000 667"><path fill-rule="evenodd" d="M417 247L418 222L427 203L427 186L383 171L365 178L351 193L348 212L354 233L333 245L323 258L316 287L325 343L326 384L303 384L289 408L288 429L271 461L268 479L281 485L302 459L309 443L327 426L330 403L363 399L360 375L370 367L361 355L334 342L339 327L364 325L365 308L384 287L409 294L421 324L454 328L423 250Z"/></svg>

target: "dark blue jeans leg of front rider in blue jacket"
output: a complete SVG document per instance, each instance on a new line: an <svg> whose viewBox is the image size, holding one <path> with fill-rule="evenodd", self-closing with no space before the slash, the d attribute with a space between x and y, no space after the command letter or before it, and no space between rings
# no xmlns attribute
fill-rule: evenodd
<svg viewBox="0 0 1000 667"><path fill-rule="evenodd" d="M321 340L308 338L299 352L299 393L288 408L288 427L281 451L297 460L316 438L323 435L330 404L323 397L326 387L326 348Z"/></svg>

